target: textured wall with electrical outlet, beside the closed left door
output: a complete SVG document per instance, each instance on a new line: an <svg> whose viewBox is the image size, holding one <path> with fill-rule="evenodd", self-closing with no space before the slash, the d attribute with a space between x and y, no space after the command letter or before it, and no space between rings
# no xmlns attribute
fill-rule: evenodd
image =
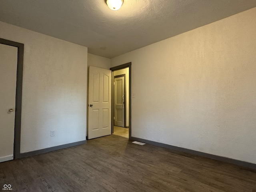
<svg viewBox="0 0 256 192"><path fill-rule="evenodd" d="M0 38L24 43L20 151L85 140L87 48L3 22Z"/></svg>

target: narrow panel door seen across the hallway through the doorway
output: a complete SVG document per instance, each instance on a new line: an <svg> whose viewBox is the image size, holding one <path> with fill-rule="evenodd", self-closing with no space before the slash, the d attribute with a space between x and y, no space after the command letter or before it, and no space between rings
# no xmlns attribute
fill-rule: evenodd
<svg viewBox="0 0 256 192"><path fill-rule="evenodd" d="M114 82L114 125L124 127L124 76L115 78Z"/></svg>

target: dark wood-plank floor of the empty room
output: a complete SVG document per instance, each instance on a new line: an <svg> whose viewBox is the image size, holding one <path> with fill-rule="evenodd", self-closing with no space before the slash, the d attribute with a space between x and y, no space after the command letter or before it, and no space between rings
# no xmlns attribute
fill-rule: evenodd
<svg viewBox="0 0 256 192"><path fill-rule="evenodd" d="M256 192L256 171L110 135L0 163L0 191L4 184L15 192Z"/></svg>

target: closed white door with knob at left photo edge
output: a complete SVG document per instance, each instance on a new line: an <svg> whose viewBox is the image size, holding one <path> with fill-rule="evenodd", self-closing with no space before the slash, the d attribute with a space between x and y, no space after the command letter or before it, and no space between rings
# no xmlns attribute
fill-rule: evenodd
<svg viewBox="0 0 256 192"><path fill-rule="evenodd" d="M0 44L0 162L13 159L18 48Z"/></svg>

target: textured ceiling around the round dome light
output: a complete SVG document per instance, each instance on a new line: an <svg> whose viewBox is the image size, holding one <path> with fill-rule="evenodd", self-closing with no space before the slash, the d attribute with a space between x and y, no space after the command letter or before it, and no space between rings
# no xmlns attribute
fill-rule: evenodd
<svg viewBox="0 0 256 192"><path fill-rule="evenodd" d="M0 0L0 20L113 58L256 7L256 0ZM100 49L105 47L105 50Z"/></svg>

